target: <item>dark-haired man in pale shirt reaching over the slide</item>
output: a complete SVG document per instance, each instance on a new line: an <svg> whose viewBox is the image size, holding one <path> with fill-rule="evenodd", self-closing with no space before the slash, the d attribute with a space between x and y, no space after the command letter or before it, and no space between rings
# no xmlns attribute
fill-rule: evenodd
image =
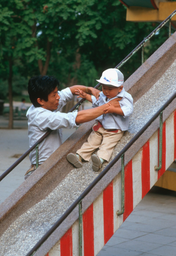
<svg viewBox="0 0 176 256"><path fill-rule="evenodd" d="M73 95L78 94L76 89L91 93L98 98L99 90L83 85L74 85L61 91L58 91L59 81L53 76L35 76L29 80L28 93L32 106L27 111L28 118L28 136L29 146L31 147L39 140L49 129L52 133L40 143L38 151L38 163L42 164L61 144L61 128L75 128L79 124L89 122L104 113L104 109L109 106L103 106L73 111L72 113L61 113L68 101L73 99ZM117 101L111 101L115 106ZM29 155L31 168L26 172L25 179L29 177L36 169L36 153L33 150Z"/></svg>

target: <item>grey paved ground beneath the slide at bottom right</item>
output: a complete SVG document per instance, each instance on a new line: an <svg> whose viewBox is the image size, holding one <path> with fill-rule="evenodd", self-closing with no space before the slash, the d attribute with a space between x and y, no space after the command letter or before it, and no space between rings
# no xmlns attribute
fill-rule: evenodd
<svg viewBox="0 0 176 256"><path fill-rule="evenodd" d="M176 192L154 187L98 256L176 256Z"/></svg>

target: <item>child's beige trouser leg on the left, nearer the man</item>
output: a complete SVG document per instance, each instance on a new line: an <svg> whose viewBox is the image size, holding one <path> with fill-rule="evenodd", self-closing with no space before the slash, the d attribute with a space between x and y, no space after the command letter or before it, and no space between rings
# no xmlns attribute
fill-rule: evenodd
<svg viewBox="0 0 176 256"><path fill-rule="evenodd" d="M87 142L76 151L76 154L79 154L86 161L90 160L91 154L101 145L102 135L98 131L92 131Z"/></svg>

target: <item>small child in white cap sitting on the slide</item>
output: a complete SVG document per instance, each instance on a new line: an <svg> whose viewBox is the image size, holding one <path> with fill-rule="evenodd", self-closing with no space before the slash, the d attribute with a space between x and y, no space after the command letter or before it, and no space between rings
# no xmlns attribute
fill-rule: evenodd
<svg viewBox="0 0 176 256"><path fill-rule="evenodd" d="M123 88L124 76L118 69L110 68L102 73L102 92L97 100L84 91L77 89L81 98L92 102L92 107L102 106L109 103L104 109L104 114L99 116L97 123L92 127L92 133L87 142L76 151L66 156L67 160L75 167L82 167L82 160L92 159L92 169L97 172L104 161L109 161L113 149L129 126L129 116L133 113L133 98ZM118 106L111 105L113 99L118 99ZM92 154L98 149L97 155ZM92 154L92 156L91 156Z"/></svg>

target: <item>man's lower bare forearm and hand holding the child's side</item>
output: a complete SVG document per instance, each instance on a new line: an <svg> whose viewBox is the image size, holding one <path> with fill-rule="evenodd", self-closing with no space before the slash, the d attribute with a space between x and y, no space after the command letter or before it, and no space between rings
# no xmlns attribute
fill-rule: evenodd
<svg viewBox="0 0 176 256"><path fill-rule="evenodd" d="M117 99L113 99L111 101L111 104L113 106L115 106L115 108L117 107L118 100ZM97 118L98 116L101 116L102 114L104 114L104 109L108 108L109 104L106 103L104 105L101 105L97 108L91 108L91 109L86 109L86 110L81 110L78 112L77 117L75 119L76 124L81 124L84 122L89 122L95 118Z"/></svg>

